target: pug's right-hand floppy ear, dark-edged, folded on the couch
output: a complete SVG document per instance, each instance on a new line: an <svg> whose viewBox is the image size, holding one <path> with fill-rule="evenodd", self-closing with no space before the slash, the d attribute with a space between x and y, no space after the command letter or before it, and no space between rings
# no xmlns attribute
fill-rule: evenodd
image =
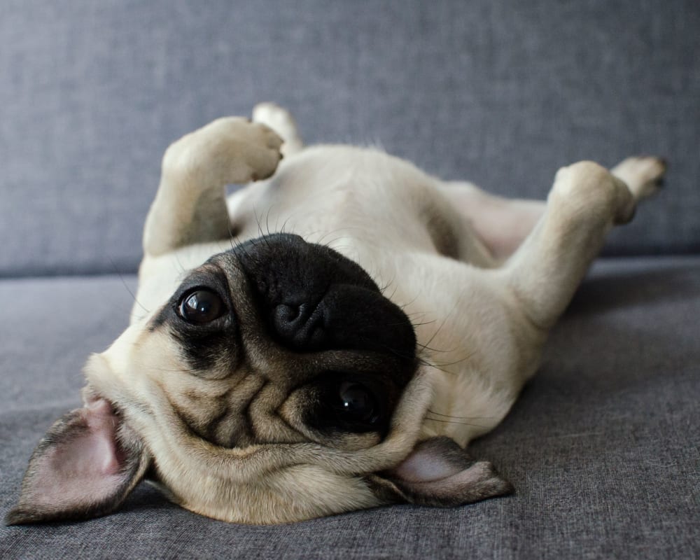
<svg viewBox="0 0 700 560"><path fill-rule="evenodd" d="M451 507L512 493L491 463L475 461L449 437L416 445L397 468L370 477L374 493L390 502Z"/></svg>

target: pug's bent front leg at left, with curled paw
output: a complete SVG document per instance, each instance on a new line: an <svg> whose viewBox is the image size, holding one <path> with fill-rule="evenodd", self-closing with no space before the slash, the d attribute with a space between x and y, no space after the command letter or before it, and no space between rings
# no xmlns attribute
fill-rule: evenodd
<svg viewBox="0 0 700 560"><path fill-rule="evenodd" d="M144 253L230 235L225 186L266 179L281 158L281 139L267 126L228 117L172 144L162 161L158 193L144 228Z"/></svg>

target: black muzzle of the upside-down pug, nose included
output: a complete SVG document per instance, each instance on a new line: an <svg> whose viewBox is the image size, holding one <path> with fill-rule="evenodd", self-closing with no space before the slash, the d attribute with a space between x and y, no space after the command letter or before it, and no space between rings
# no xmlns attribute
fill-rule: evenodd
<svg viewBox="0 0 700 560"><path fill-rule="evenodd" d="M352 349L415 357L413 326L356 262L301 237L272 234L232 251L261 325L297 352Z"/></svg>

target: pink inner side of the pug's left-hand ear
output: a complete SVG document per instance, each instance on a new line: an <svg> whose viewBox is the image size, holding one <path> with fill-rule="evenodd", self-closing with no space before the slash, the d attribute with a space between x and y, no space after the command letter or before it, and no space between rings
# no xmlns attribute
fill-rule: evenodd
<svg viewBox="0 0 700 560"><path fill-rule="evenodd" d="M76 412L66 433L38 457L31 489L40 507L80 507L111 498L125 482L124 454L118 449L118 419L97 399Z"/></svg>

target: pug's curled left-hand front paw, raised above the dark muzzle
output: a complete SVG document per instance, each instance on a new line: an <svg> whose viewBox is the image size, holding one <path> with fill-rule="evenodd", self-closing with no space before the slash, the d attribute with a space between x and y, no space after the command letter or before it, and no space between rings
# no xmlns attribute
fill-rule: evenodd
<svg viewBox="0 0 700 560"><path fill-rule="evenodd" d="M195 176L201 184L258 181L275 172L281 145L282 139L261 123L219 118L172 144L163 158L163 171Z"/></svg>

